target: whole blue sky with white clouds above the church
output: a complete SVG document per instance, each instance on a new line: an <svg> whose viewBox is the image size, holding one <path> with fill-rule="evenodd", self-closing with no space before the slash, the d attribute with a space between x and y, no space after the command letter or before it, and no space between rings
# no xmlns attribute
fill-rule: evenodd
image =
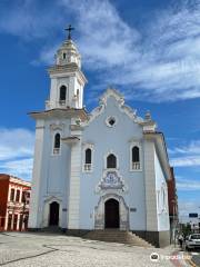
<svg viewBox="0 0 200 267"><path fill-rule="evenodd" d="M82 55L88 110L112 85L164 132L181 215L200 212L200 1L1 0L0 171L30 179L48 66L66 37Z"/></svg>

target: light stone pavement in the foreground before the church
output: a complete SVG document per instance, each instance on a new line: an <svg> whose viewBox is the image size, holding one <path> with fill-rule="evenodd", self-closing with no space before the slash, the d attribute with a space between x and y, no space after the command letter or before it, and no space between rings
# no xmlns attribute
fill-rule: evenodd
<svg viewBox="0 0 200 267"><path fill-rule="evenodd" d="M170 267L172 247L130 247L61 234L0 233L0 266L7 267ZM150 255L160 256L158 263Z"/></svg>

